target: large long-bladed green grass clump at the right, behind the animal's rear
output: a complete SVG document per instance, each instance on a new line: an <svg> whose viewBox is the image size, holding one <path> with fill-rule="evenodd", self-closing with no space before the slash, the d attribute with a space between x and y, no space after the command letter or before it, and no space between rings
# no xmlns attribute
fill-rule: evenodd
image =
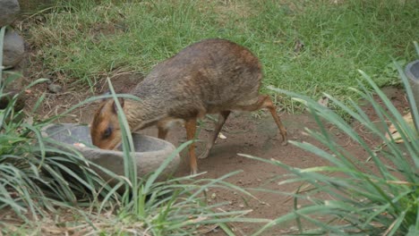
<svg viewBox="0 0 419 236"><path fill-rule="evenodd" d="M413 107L417 107L408 79L400 66L398 72L406 88L406 95ZM345 105L336 97L329 97L335 105L349 114L356 122L363 124L363 130L374 134L375 139L382 142L380 147L370 147L345 120L329 108L319 105L309 97L297 95L282 89L273 89L285 93L307 107L319 124L318 131L307 130L311 136L321 142L322 147L306 142L291 141L296 147L301 147L312 154L329 161L329 166L317 166L305 169L295 168L279 161L267 161L285 168L292 176L280 184L288 182L303 182L302 187L290 196L295 198L295 211L279 217L268 223L266 228L276 223L296 219L302 233L337 233L338 235L368 234L368 235L417 235L419 228L419 131L415 126L403 119L403 115L392 105L377 84L365 72L360 71L364 81L358 83L358 88L351 91L363 97L372 105L379 117L379 122L373 122L356 105L349 101ZM382 105L374 100L373 91L380 97ZM417 109L412 109L415 124L419 124ZM346 147L338 145L333 139L324 122L329 122L344 132L347 137L361 147L370 156L375 170L365 164L360 156L354 156ZM389 122L393 123L399 132L402 144L386 133ZM384 131L382 131L382 129ZM365 157L366 158L366 157ZM262 160L262 159L261 159ZM324 196L328 196L325 198ZM319 197L321 196L321 197ZM300 201L304 203L300 203ZM323 220L321 220L323 216ZM324 220L326 216L327 220ZM315 230L303 230L302 221L314 225Z"/></svg>

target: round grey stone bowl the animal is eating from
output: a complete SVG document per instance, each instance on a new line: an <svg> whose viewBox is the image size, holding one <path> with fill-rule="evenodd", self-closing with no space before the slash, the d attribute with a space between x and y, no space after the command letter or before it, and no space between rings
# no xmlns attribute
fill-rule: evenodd
<svg viewBox="0 0 419 236"><path fill-rule="evenodd" d="M88 126L72 123L50 124L43 129L42 134L62 143L61 147L76 148L91 162L105 167L117 175L124 176L123 152L119 150L105 150L93 146ZM74 145L77 143L82 145ZM133 144L136 151L134 158L137 164L138 177L143 177L157 170L160 164L175 151L173 144L163 139L141 135L140 133L133 133ZM158 181L164 181L175 173L179 163L180 156L176 155L165 170L160 173ZM98 169L96 171L105 181L109 181L111 185L117 183L107 173L103 173Z"/></svg>

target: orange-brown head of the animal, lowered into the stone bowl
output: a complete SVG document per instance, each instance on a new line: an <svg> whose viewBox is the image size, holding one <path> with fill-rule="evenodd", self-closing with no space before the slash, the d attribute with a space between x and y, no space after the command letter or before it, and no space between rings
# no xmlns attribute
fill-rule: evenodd
<svg viewBox="0 0 419 236"><path fill-rule="evenodd" d="M124 99L119 98L124 107ZM102 149L114 149L121 142L121 128L118 122L118 109L113 99L104 101L90 124L93 145Z"/></svg>

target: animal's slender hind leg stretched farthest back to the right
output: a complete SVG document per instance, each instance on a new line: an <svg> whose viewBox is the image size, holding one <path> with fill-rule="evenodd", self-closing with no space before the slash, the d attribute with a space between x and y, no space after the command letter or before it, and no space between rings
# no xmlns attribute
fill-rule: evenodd
<svg viewBox="0 0 419 236"><path fill-rule="evenodd" d="M284 127L281 120L279 119L275 105L273 104L272 100L270 99L268 95L260 95L256 103L252 105L241 105L239 106L239 108L244 111L256 111L261 108L269 109L269 112L270 114L272 114L272 117L277 123L278 129L281 133L282 145L286 145L288 143L288 139L286 138L286 128Z"/></svg>

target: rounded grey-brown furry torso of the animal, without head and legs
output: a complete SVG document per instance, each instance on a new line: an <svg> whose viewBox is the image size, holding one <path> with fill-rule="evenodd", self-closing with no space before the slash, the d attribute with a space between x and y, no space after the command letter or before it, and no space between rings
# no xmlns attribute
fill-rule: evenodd
<svg viewBox="0 0 419 236"><path fill-rule="evenodd" d="M177 113L218 113L257 101L261 77L261 63L244 46L206 39L159 63L132 93Z"/></svg>

